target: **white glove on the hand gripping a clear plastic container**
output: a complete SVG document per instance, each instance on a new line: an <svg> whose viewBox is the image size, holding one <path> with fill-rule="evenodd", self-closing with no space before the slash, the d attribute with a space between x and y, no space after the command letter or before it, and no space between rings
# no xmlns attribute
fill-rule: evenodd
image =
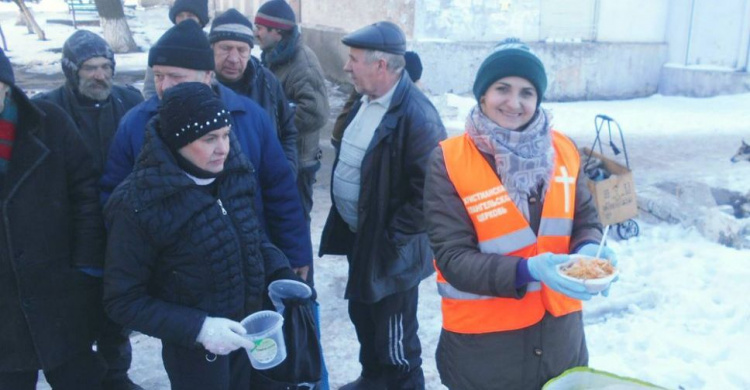
<svg viewBox="0 0 750 390"><path fill-rule="evenodd" d="M196 341L203 344L208 352L227 355L238 348L253 347L250 339L242 336L246 333L247 331L239 322L226 318L206 317Z"/></svg>

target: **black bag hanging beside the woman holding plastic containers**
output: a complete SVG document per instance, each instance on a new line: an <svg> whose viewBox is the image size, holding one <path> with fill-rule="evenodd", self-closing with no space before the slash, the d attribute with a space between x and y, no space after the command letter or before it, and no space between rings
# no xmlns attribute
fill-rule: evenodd
<svg viewBox="0 0 750 390"><path fill-rule="evenodd" d="M321 379L320 340L310 299L284 299L286 359L268 370L253 369L252 389L318 389Z"/></svg>

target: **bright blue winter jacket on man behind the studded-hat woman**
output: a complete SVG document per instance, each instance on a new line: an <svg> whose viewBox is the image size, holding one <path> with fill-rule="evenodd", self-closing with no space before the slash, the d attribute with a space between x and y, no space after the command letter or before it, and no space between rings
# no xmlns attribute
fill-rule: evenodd
<svg viewBox="0 0 750 390"><path fill-rule="evenodd" d="M311 264L310 230L302 212L294 173L268 114L252 100L222 85L214 85L214 90L231 111L232 132L255 167L261 195L255 197L255 209L262 216L269 239L284 252L292 267ZM100 182L102 203L106 203L115 187L133 170L143 147L146 123L157 114L159 105L159 98L152 96L133 107L120 121Z"/></svg>

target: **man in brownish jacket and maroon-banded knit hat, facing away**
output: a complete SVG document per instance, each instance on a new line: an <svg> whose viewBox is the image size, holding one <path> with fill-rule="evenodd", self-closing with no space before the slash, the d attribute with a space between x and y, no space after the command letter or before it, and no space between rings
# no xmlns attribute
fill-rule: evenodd
<svg viewBox="0 0 750 390"><path fill-rule="evenodd" d="M276 75L286 97L297 107L294 113L294 124L299 131L297 188L309 224L313 184L322 157L320 130L330 112L325 76L318 57L302 42L294 11L284 0L264 3L255 14L255 27L255 38L263 49L263 65ZM312 280L312 275L308 279Z"/></svg>

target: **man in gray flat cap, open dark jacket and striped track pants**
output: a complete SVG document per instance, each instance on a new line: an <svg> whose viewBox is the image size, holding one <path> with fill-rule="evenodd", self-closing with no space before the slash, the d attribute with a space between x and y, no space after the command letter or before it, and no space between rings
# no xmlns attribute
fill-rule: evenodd
<svg viewBox="0 0 750 390"><path fill-rule="evenodd" d="M406 39L378 22L342 39L362 99L334 140L332 207L320 255L346 255L345 298L360 343L361 376L341 389L424 389L417 336L419 282L433 272L422 191L445 127L404 72Z"/></svg>

